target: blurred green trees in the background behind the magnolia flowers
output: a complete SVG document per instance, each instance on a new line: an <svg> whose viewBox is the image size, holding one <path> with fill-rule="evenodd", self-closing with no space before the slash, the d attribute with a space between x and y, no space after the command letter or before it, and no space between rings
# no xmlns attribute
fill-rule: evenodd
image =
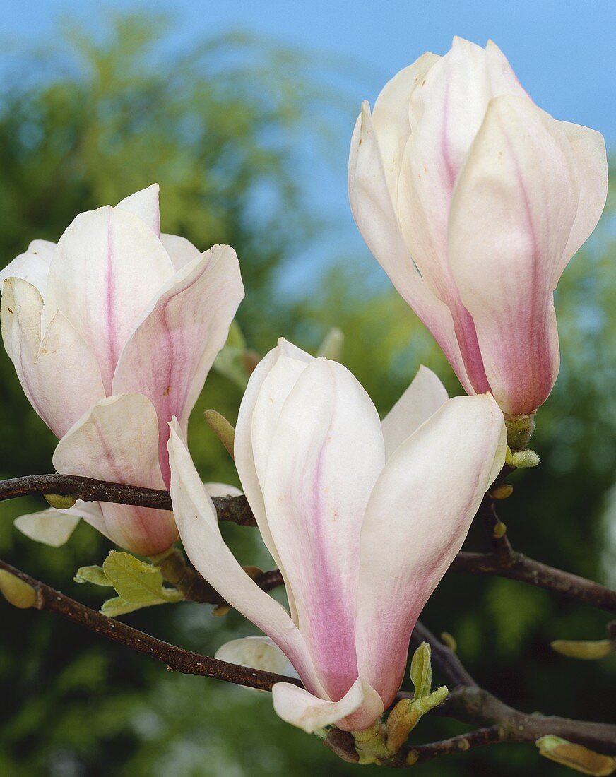
<svg viewBox="0 0 616 777"><path fill-rule="evenodd" d="M383 283L367 251L332 257L305 294L289 299L280 291L291 258L328 228L305 199L301 171L307 151L325 154L335 142L345 153L347 139L332 141L327 117L343 111L350 132L357 106L318 76L319 68L337 65L243 34L206 40L180 56L165 54L168 30L164 19L121 16L96 37L71 30L53 50L15 63L0 92L2 265L30 239L57 240L78 212L115 204L156 180L165 232L201 249L228 242L237 250L247 291L238 320L250 347L263 354L284 334L314 351L338 326L346 336L342 361L381 412L422 362L452 393L460 392L430 336ZM538 415L534 447L542 463L517 473L516 491L502 508L517 549L612 585L613 211L614 197L560 284L562 370ZM4 352L0 358L0 476L49 472L54 438L30 409ZM203 411L214 407L235 420L240 398L241 389L223 375L208 378L190 434L204 479L237 483ZM61 549L31 542L12 518L43 506L38 500L0 504L2 558L98 608L100 589L71 578L78 566L100 563L110 544L85 524ZM224 531L242 563L268 566L256 531ZM479 528L468 548L485 549ZM137 628L207 653L232 636L255 632L237 613L212 618L209 608L187 603L126 617ZM0 618L2 775L259 777L357 770L315 737L282 723L267 694L170 674L45 612L16 611L0 601ZM515 581L449 573L424 620L437 633L454 634L480 684L513 706L614 722L614 655L576 662L549 647L557 638L602 638L605 613ZM427 741L461 730L435 717L424 719L412 737ZM567 772L520 745L472 751L421 770L426 777Z"/></svg>

